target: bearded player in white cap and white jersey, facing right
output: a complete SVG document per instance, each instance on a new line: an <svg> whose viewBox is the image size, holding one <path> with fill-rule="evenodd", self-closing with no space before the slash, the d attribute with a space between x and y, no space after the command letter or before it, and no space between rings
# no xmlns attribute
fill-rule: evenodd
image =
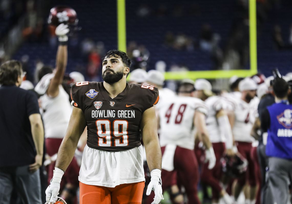
<svg viewBox="0 0 292 204"><path fill-rule="evenodd" d="M237 180L234 187L234 198L237 200L242 188L248 180L250 193L249 196L248 193L246 194L246 203L254 203L256 196L256 175L251 155L254 138L250 134L257 113L258 99L255 98L256 89L257 84L250 78L245 78L239 83L241 97L235 100L235 118L234 122L232 122L232 124L234 124L232 131L238 152L248 160L248 172L245 172L244 175Z"/></svg>

